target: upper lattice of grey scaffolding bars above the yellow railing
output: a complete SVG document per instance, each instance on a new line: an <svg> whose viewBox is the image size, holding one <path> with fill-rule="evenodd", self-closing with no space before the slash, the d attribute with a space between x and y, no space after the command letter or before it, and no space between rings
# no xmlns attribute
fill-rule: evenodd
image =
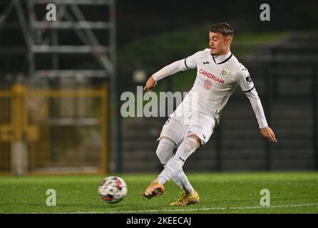
<svg viewBox="0 0 318 228"><path fill-rule="evenodd" d="M56 21L41 18L41 11L36 6L46 6L43 0L29 0L29 73L36 77L111 77L114 75L116 61L116 24L115 2L113 0L52 0L56 5ZM100 18L88 21L85 11L89 6L107 6L108 21ZM98 8L96 8L98 9ZM105 16L105 18L107 18ZM103 19L103 20L102 20ZM51 30L46 34L46 31ZM63 31L73 31L81 43L77 45L61 43ZM108 42L103 42L95 31L108 33ZM60 33L61 31L61 33ZM105 38L105 37L104 37ZM103 43L103 44L102 44ZM37 55L51 56L51 68L39 68ZM90 55L99 63L101 69L68 69L61 68L60 58L67 56Z"/></svg>

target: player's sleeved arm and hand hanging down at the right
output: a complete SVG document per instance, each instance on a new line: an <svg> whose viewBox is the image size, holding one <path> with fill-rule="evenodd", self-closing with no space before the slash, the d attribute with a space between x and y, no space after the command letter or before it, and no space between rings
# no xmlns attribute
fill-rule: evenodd
<svg viewBox="0 0 318 228"><path fill-rule="evenodd" d="M242 66L240 71L238 71L235 75L235 78L237 83L239 83L240 87L242 88L243 92L245 92L245 94L247 95L247 98L249 98L250 100L252 109L257 118L257 123L260 127L261 134L263 135L263 137L270 140L270 142L277 142L274 131L267 124L262 103L260 101L260 97L257 94L257 90L254 86L250 73L244 66Z"/></svg>

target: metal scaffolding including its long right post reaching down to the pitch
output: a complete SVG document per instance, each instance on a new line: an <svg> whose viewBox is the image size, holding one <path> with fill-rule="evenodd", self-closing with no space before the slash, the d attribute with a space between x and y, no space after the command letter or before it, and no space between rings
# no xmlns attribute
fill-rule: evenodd
<svg viewBox="0 0 318 228"><path fill-rule="evenodd" d="M43 4L43 1L30 0L29 1L29 63L30 76L35 77L60 77L71 78L77 76L85 76L87 78L108 78L109 86L111 88L110 104L111 104L111 153L113 160L116 160L116 170L120 172L120 147L118 146L120 139L120 118L118 118L118 90L116 80L116 6L114 0L52 0L51 4L58 6L57 21L52 23L48 21L38 21L34 6L36 4ZM83 11L85 7L80 5L104 5L108 6L108 21L87 21ZM63 21L61 21L63 17ZM81 46L61 45L58 44L58 31L74 31L79 40L83 43ZM109 42L107 45L102 45L93 30L105 30L109 32ZM51 31L50 37L43 38L45 31ZM36 36L36 37L35 37ZM34 43L36 38L36 43ZM36 69L36 54L50 54L53 68L51 69ZM103 68L102 70L74 70L74 69L59 69L58 58L64 53L73 53L78 55L91 54ZM119 151L118 151L119 150Z"/></svg>

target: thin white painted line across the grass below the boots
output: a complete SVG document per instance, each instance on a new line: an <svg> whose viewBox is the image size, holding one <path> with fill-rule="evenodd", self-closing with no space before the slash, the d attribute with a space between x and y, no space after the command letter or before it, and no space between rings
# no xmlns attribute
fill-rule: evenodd
<svg viewBox="0 0 318 228"><path fill-rule="evenodd" d="M141 213L141 212L195 212L195 211L210 211L210 210L233 210L233 209L267 209L276 207L308 207L308 206L318 206L318 204L290 204L290 205L275 205L275 206L256 206L256 207L207 207L207 208L189 208L189 209L145 209L145 210L135 210L135 211L119 211L119 212L109 212L113 214L122 213Z"/></svg>

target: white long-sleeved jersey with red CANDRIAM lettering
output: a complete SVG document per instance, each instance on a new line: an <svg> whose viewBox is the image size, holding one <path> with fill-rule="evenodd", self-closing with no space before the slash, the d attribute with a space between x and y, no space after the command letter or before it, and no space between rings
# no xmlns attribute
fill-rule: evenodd
<svg viewBox="0 0 318 228"><path fill-rule="evenodd" d="M212 56L210 49L198 51L188 58L175 61L153 74L155 81L166 76L197 68L195 83L175 110L177 113L189 113L198 110L209 114L221 114L227 100L237 86L240 86L250 99L260 128L267 127L264 110L254 83L247 68L231 52L224 56ZM191 107L189 107L189 105Z"/></svg>

